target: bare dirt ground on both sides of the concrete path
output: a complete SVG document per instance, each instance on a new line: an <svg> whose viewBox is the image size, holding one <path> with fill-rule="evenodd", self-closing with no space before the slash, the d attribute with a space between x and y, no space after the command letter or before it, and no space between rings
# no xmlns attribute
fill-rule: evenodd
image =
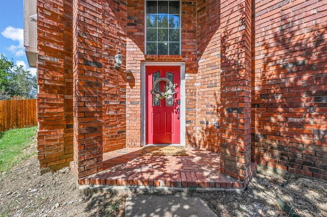
<svg viewBox="0 0 327 217"><path fill-rule="evenodd" d="M35 151L36 145L26 151ZM36 157L0 175L0 216L124 216L131 193L80 195L72 172L63 168L40 176ZM327 216L327 185L319 180L286 180L266 174L253 177L244 192L188 191L174 193L201 197L218 216L288 216L276 202L276 194L288 200L301 216Z"/></svg>

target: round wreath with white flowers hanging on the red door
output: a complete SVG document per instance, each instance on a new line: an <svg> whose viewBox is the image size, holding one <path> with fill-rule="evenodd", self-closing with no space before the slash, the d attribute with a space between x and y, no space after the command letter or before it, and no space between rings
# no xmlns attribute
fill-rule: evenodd
<svg viewBox="0 0 327 217"><path fill-rule="evenodd" d="M173 97L175 92L175 88L177 84L173 84L168 78L166 77L159 77L153 82L153 88L159 83L159 82L166 82L167 86L164 87L164 92L160 92L158 89L151 90L151 94L154 95L154 101L157 103L160 99L170 99Z"/></svg>

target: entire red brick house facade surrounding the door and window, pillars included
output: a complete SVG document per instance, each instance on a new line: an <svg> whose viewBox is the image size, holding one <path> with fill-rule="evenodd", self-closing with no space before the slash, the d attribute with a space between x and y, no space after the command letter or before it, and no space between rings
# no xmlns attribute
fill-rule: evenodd
<svg viewBox="0 0 327 217"><path fill-rule="evenodd" d="M73 160L73 138L79 178L103 169L103 152L140 146L141 64L170 61L185 62L186 145L220 151L221 172L247 182L252 153L326 179L322 1L182 1L180 56L145 55L144 1L37 4L41 171Z"/></svg>

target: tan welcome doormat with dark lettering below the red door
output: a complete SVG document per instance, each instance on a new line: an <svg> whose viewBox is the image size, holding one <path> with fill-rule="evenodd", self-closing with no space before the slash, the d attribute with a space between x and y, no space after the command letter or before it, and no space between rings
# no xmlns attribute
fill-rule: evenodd
<svg viewBox="0 0 327 217"><path fill-rule="evenodd" d="M144 146L139 155L188 155L184 146Z"/></svg>

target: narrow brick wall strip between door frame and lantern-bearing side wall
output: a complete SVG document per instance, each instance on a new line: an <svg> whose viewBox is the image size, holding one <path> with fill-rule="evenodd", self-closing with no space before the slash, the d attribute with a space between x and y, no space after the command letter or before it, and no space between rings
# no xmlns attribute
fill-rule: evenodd
<svg viewBox="0 0 327 217"><path fill-rule="evenodd" d="M126 145L141 146L141 61L144 60L144 1L127 1Z"/></svg>

